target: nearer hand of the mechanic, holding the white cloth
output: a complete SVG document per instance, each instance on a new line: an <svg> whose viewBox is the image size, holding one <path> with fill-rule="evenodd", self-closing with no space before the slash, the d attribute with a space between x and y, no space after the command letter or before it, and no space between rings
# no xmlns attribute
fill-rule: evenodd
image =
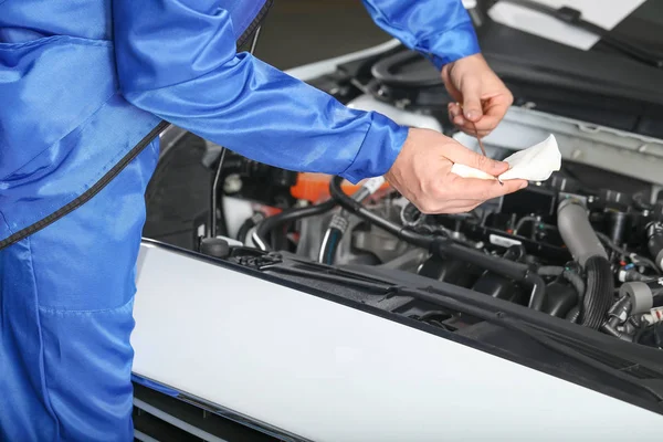
<svg viewBox="0 0 663 442"><path fill-rule="evenodd" d="M492 198L527 186L524 180L462 178L451 172L454 162L498 176L506 162L476 154L454 139L429 129L410 129L401 152L385 178L423 213L462 213Z"/></svg>

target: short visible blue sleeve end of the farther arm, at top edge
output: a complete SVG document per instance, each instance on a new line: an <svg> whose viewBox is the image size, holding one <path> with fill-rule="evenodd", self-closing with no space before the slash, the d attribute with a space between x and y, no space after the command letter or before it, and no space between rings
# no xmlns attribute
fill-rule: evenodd
<svg viewBox="0 0 663 442"><path fill-rule="evenodd" d="M439 70L480 52L461 0L361 0L373 21Z"/></svg>

